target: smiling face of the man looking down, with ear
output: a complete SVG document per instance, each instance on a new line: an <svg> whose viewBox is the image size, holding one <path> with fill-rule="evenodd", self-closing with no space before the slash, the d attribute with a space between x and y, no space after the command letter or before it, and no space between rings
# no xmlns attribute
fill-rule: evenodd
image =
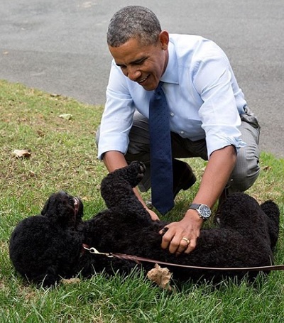
<svg viewBox="0 0 284 323"><path fill-rule="evenodd" d="M109 46L109 51L126 77L151 91L158 87L168 64L168 33L162 31L155 44L142 45L131 38L119 47Z"/></svg>

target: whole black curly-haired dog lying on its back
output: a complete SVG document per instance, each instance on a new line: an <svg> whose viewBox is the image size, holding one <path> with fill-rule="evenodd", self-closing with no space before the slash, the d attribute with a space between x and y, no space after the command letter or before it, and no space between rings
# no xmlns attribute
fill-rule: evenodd
<svg viewBox="0 0 284 323"><path fill-rule="evenodd" d="M132 188L143 177L145 167L133 162L110 173L102 181L102 197L108 209L82 221L83 204L77 197L58 192L50 196L40 215L23 219L10 239L10 257L16 270L33 283L53 285L60 278L81 273L89 277L104 271L129 273L134 261L94 255L83 245L105 253L126 253L168 263L215 268L243 268L273 264L278 240L279 209L267 201L261 206L244 193L226 199L219 228L202 229L190 254L175 256L160 248L158 233L167 223L152 221ZM140 267L139 267L140 266ZM153 263L142 262L143 270ZM197 270L167 265L178 281L243 278L247 272ZM254 278L257 272L249 272Z"/></svg>

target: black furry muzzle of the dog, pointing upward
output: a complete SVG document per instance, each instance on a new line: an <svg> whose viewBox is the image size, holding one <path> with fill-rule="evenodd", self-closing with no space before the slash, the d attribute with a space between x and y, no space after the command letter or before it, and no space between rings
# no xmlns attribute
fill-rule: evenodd
<svg viewBox="0 0 284 323"><path fill-rule="evenodd" d="M63 226L77 226L82 221L83 204L78 197L60 191L50 195L41 215Z"/></svg>

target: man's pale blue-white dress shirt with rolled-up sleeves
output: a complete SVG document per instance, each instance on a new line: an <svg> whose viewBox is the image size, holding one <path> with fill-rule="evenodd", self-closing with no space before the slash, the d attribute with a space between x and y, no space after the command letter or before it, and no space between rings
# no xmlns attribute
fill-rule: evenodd
<svg viewBox="0 0 284 323"><path fill-rule="evenodd" d="M170 34L169 59L161 77L170 108L170 129L183 138L206 138L208 156L241 141L239 114L246 100L226 54L212 40L197 35ZM98 157L109 150L126 153L134 111L148 118L150 97L112 62L107 102L102 116Z"/></svg>

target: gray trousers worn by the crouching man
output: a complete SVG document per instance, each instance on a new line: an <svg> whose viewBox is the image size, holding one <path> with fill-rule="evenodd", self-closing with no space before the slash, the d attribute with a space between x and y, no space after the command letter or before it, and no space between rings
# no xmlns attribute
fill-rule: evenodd
<svg viewBox="0 0 284 323"><path fill-rule="evenodd" d="M241 138L246 147L239 150L236 165L231 173L227 188L230 192L244 192L248 190L258 177L259 167L259 134L260 127L256 118L251 114L241 115ZM182 138L178 133L171 133L173 158L200 157L208 160L205 139L191 141ZM98 143L99 130L96 141ZM145 192L151 187L150 178L150 136L148 131L148 119L136 112L133 117L133 126L129 133L129 148L125 155L127 163L140 160L146 165L146 174L139 188Z"/></svg>

